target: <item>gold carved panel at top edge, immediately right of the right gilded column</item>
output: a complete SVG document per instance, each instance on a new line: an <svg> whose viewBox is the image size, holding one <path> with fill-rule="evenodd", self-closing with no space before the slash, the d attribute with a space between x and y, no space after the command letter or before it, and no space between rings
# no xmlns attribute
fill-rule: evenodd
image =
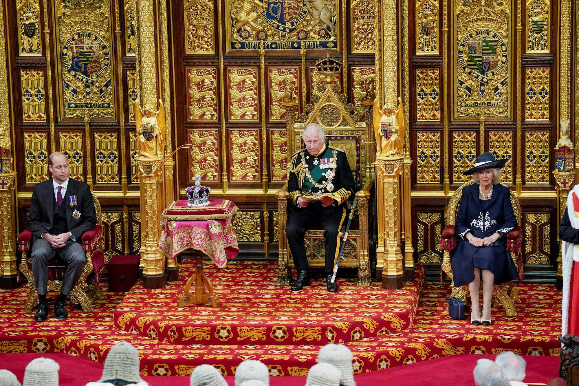
<svg viewBox="0 0 579 386"><path fill-rule="evenodd" d="M416 0L416 53L438 54L438 2Z"/></svg>

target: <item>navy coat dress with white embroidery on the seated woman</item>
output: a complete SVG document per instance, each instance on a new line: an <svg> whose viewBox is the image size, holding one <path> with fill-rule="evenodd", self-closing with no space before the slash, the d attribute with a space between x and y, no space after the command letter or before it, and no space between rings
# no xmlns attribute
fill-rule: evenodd
<svg viewBox="0 0 579 386"><path fill-rule="evenodd" d="M492 271L495 285L518 278L515 263L507 251L506 235L517 226L509 189L505 185L496 184L492 197L481 200L478 188L479 184L463 188L456 213L456 236L459 242L451 261L455 287L472 282L475 267ZM502 232L503 236L490 246L475 247L465 239L468 232L481 239L494 232Z"/></svg>

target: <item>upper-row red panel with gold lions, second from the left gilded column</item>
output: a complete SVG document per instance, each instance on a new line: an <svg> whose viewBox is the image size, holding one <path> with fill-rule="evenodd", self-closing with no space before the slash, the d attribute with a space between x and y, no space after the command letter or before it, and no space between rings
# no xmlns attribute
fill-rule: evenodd
<svg viewBox="0 0 579 386"><path fill-rule="evenodd" d="M258 120L257 68L228 68L229 120Z"/></svg>

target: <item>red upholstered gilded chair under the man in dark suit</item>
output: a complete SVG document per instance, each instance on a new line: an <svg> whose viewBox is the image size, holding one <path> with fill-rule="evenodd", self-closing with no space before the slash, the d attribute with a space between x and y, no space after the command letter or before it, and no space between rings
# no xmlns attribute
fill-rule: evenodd
<svg viewBox="0 0 579 386"><path fill-rule="evenodd" d="M102 254L102 215L101 205L93 192L94 210L97 215L97 225L94 229L82 235L82 247L86 252L86 261L83 272L76 282L71 292L71 300L74 304L80 304L83 311L93 311L93 303L97 299L102 299L101 290L98 287L98 279L104 270L105 258ZM26 228L18 236L18 249L22 252L22 261L19 270L28 279L28 298L24 304L24 312L32 311L38 304L38 293L34 276L32 275L32 259L30 256L30 240L32 232ZM55 258L48 262L48 285L47 292L58 292L63 286L64 272L67 270L67 263L60 258Z"/></svg>

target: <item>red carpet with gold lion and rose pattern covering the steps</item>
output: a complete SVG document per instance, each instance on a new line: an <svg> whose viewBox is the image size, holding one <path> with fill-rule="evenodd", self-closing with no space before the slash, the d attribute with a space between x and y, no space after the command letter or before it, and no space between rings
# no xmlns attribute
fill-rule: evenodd
<svg viewBox="0 0 579 386"><path fill-rule="evenodd" d="M163 289L137 285L124 300L123 293L104 292L94 312L68 307L65 321L35 323L33 314L21 311L25 289L0 291L0 352L64 352L102 363L112 345L126 340L140 351L144 375L187 375L201 363L232 375L241 360L259 359L272 374L286 377L306 375L328 341L345 341L358 374L455 354L495 355L504 349L521 355L559 354L561 293L554 286L517 286L522 301L518 316L493 308L493 325L475 327L443 314L448 284L428 283L420 293L422 265L417 267L419 280L404 289L340 281L342 289L330 296L320 281L296 294L272 286L274 262L232 263L225 270L206 270L223 300L218 310L175 307L186 272L192 271L190 263L182 264L181 280ZM382 334L386 331L390 333Z"/></svg>

